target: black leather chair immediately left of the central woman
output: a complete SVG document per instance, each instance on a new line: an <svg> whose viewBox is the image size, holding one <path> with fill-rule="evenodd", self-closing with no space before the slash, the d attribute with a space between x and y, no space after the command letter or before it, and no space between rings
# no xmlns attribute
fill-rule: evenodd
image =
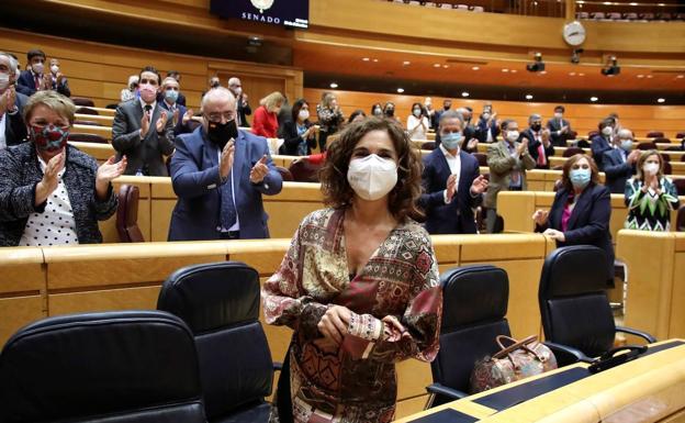
<svg viewBox="0 0 685 423"><path fill-rule="evenodd" d="M157 309L195 337L207 420L267 422L273 363L259 323L257 270L238 261L184 267L161 286Z"/></svg>

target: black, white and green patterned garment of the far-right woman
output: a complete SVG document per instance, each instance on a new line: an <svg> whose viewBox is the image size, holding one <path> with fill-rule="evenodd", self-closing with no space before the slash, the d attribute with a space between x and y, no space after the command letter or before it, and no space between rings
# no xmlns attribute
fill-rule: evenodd
<svg viewBox="0 0 685 423"><path fill-rule="evenodd" d="M671 179L659 180L661 194L649 189L642 192L644 182L630 178L626 182L626 204L628 218L625 226L629 230L667 232L671 230L671 211L677 210L678 198Z"/></svg>

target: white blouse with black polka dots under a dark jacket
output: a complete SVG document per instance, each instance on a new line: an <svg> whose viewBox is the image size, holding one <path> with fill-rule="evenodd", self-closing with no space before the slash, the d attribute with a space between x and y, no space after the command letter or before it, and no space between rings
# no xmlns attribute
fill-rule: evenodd
<svg viewBox="0 0 685 423"><path fill-rule="evenodd" d="M38 163L41 170L45 172L45 162L38 157ZM76 220L74 219L69 193L61 179L65 170L66 168L57 174L59 183L57 189L47 197L47 204L43 213L29 215L19 246L44 247L78 244Z"/></svg>

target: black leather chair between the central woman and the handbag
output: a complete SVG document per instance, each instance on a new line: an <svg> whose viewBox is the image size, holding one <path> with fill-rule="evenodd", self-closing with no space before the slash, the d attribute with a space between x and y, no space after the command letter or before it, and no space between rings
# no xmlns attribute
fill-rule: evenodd
<svg viewBox="0 0 685 423"><path fill-rule="evenodd" d="M427 407L467 397L475 361L499 350L497 335L510 335L505 270L490 265L458 267L440 275L440 350L430 364L434 383L426 388Z"/></svg>

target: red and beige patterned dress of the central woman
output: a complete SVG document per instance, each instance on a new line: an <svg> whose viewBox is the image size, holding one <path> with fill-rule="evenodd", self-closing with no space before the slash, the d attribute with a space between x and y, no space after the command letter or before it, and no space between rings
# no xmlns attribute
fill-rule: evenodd
<svg viewBox="0 0 685 423"><path fill-rule="evenodd" d="M333 209L307 215L262 289L267 322L295 331L290 366L299 423L391 422L395 363L430 361L438 352L442 292L428 233L413 221L398 224L350 280L344 219L344 210ZM323 342L316 326L335 304L360 322L357 331L350 324L357 336L346 335L341 347ZM382 335L378 329L392 321L406 331Z"/></svg>

